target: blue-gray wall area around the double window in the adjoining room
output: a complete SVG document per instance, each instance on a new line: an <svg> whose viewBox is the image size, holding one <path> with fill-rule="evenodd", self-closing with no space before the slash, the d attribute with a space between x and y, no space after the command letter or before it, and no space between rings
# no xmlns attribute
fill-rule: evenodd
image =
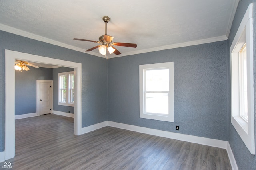
<svg viewBox="0 0 256 170"><path fill-rule="evenodd" d="M65 113L70 113L74 114L74 107L72 106L63 106L63 105L58 105L58 73L60 72L69 72L69 71L74 71L74 68L68 68L68 67L60 67L60 68L54 68L53 69L53 110L55 111L62 111Z"/></svg>

